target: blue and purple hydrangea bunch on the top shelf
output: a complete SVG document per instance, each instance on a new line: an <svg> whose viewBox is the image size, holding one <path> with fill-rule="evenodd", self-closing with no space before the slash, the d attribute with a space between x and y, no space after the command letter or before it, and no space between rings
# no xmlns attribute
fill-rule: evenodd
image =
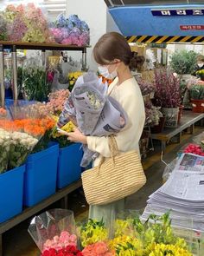
<svg viewBox="0 0 204 256"><path fill-rule="evenodd" d="M61 14L50 23L50 31L57 43L86 46L90 41L89 27L77 15L66 17Z"/></svg>

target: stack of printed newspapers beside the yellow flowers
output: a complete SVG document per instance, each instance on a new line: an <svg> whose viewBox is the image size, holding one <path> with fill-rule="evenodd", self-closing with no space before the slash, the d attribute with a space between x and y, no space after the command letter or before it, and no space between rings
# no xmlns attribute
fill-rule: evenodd
<svg viewBox="0 0 204 256"><path fill-rule="evenodd" d="M142 219L170 210L173 226L204 232L204 157L182 154L169 180L147 202Z"/></svg>

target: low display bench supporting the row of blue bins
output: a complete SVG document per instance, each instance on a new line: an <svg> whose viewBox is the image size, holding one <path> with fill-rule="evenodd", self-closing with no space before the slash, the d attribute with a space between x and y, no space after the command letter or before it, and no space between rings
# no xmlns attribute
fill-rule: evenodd
<svg viewBox="0 0 204 256"><path fill-rule="evenodd" d="M22 221L27 220L36 213L39 213L41 210L52 205L58 200L62 200L62 207L64 209L67 209L67 195L72 193L79 187L81 187L81 181L76 181L63 189L58 190L56 194L51 195L48 199L42 200L39 204L35 205L35 207L25 208L21 214L16 215L16 217L14 217L13 219L10 219L0 224L0 256L3 256L3 233L10 230L10 228L18 225Z"/></svg>

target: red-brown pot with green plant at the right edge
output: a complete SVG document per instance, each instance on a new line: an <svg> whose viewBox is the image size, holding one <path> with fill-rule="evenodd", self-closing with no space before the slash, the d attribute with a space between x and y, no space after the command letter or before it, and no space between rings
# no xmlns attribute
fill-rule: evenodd
<svg viewBox="0 0 204 256"><path fill-rule="evenodd" d="M204 83L192 85L189 91L193 112L204 113Z"/></svg>

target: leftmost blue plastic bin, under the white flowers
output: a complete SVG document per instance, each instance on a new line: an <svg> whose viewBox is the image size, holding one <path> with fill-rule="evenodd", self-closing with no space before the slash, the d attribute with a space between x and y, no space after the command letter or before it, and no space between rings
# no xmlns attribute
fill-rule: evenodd
<svg viewBox="0 0 204 256"><path fill-rule="evenodd" d="M22 212L22 192L25 166L0 174L0 222Z"/></svg>

